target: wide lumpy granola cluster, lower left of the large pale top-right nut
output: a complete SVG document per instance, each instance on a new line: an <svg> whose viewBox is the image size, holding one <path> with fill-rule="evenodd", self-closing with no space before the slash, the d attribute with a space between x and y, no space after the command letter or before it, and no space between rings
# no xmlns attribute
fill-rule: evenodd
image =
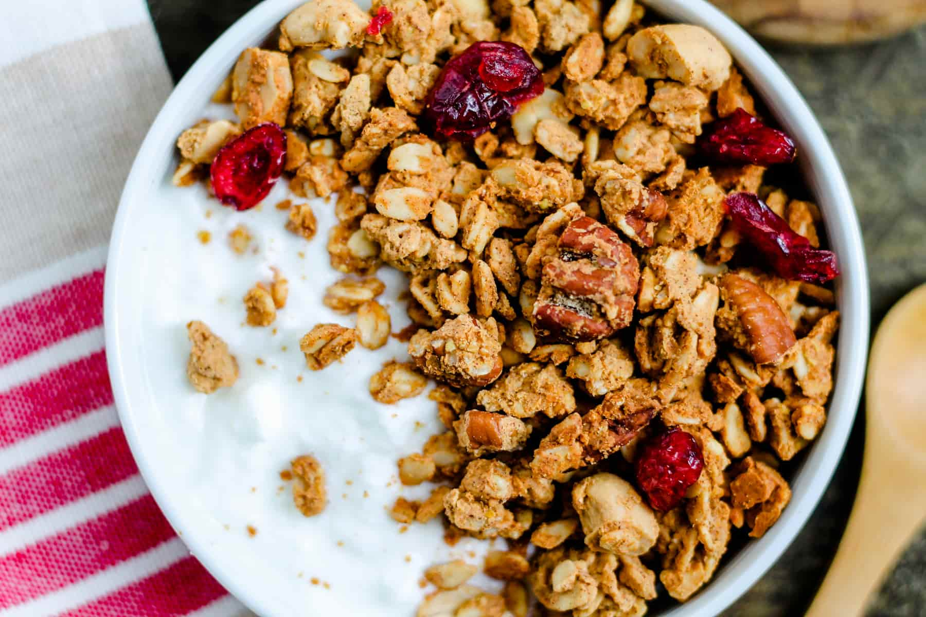
<svg viewBox="0 0 926 617"><path fill-rule="evenodd" d="M637 107L646 103L646 82L625 72L613 81L569 81L565 95L566 105L575 115L618 130Z"/></svg>

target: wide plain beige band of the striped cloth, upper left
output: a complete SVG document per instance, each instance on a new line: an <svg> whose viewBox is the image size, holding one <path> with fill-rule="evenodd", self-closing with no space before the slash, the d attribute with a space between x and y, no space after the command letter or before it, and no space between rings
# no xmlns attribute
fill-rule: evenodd
<svg viewBox="0 0 926 617"><path fill-rule="evenodd" d="M0 68L0 283L108 241L171 88L149 22Z"/></svg>

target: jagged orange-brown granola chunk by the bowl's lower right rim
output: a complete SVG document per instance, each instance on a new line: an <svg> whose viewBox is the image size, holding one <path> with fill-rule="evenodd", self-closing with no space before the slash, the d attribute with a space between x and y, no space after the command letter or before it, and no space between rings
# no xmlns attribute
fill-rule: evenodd
<svg viewBox="0 0 926 617"><path fill-rule="evenodd" d="M734 508L746 511L749 536L762 537L791 500L791 487L769 465L748 456L730 482L730 496Z"/></svg>

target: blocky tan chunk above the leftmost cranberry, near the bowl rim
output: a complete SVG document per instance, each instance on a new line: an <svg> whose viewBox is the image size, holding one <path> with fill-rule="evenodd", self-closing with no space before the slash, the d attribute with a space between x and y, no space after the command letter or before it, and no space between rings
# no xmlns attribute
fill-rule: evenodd
<svg viewBox="0 0 926 617"><path fill-rule="evenodd" d="M293 98L289 58L257 47L245 49L232 71L232 101L243 129L262 122L286 124Z"/></svg>

